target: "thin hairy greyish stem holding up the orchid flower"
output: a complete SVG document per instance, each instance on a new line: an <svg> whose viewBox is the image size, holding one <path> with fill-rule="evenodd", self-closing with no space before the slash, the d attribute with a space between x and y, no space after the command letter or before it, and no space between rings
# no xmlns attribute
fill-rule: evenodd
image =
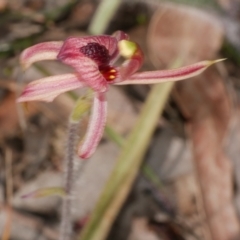
<svg viewBox="0 0 240 240"><path fill-rule="evenodd" d="M75 140L78 124L70 122L68 127L68 136L66 144L65 156L65 178L64 189L65 196L62 202L62 216L60 224L60 237L59 240L72 239L72 226L71 226L71 210L72 210L72 193L74 184L74 156L75 156Z"/></svg>

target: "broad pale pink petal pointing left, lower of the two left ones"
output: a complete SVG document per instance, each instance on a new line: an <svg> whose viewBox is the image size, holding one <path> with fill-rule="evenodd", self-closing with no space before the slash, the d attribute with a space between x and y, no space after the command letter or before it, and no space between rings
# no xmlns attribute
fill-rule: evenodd
<svg viewBox="0 0 240 240"><path fill-rule="evenodd" d="M84 83L75 74L46 77L29 83L17 101L41 100L51 102L61 93L84 86Z"/></svg>

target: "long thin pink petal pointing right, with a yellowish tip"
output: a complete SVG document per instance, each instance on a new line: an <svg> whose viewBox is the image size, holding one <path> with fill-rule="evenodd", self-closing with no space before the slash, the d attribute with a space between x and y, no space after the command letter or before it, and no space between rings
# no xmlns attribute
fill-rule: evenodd
<svg viewBox="0 0 240 240"><path fill-rule="evenodd" d="M161 83L161 82L168 82L168 81L179 81L179 80L194 77L202 73L212 64L220 62L222 60L224 59L219 59L215 61L202 61L186 67L176 68L171 70L135 73L127 80L124 80L123 82L119 82L116 84L118 85L153 84L153 83Z"/></svg>

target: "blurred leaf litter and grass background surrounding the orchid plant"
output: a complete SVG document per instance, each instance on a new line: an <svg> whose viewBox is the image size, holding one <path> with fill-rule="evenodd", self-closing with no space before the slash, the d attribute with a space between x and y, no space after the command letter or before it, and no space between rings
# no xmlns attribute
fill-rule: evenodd
<svg viewBox="0 0 240 240"><path fill-rule="evenodd" d="M27 82L69 71L49 61L23 74L19 54L116 30L143 49L142 70L227 60L175 85L111 87L105 136L76 178L75 238L240 239L238 0L0 0L1 239L58 239L61 198L21 196L62 186L68 116L81 94L17 105Z"/></svg>

